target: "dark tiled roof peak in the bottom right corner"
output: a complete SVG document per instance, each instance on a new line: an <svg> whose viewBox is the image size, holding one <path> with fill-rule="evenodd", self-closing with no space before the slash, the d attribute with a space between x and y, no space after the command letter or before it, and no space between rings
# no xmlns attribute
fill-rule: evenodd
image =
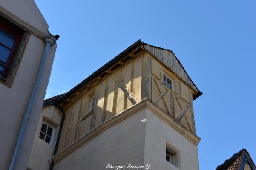
<svg viewBox="0 0 256 170"><path fill-rule="evenodd" d="M250 159L247 161L250 161L251 165L256 168L253 160L250 157L250 154L246 149L242 149L238 153L235 153L230 159L227 159L223 164L219 165L216 170L240 170L242 159L246 158L247 156ZM242 169L244 169L244 167L242 167Z"/></svg>

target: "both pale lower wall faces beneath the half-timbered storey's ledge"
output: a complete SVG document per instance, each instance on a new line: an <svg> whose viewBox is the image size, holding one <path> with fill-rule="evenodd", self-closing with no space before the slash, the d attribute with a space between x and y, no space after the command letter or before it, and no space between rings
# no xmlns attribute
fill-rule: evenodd
<svg viewBox="0 0 256 170"><path fill-rule="evenodd" d="M149 108L135 112L78 148L75 143L61 151L58 158L55 156L54 170L103 170L108 164L134 164L144 169L150 164L151 170L199 170L197 145ZM167 143L178 152L178 167L166 161Z"/></svg>

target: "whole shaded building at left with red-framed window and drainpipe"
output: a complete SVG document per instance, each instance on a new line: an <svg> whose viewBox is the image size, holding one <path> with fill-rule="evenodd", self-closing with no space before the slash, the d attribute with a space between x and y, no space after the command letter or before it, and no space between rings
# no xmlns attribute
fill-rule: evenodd
<svg viewBox="0 0 256 170"><path fill-rule="evenodd" d="M56 39L33 0L0 1L0 170L27 167Z"/></svg>

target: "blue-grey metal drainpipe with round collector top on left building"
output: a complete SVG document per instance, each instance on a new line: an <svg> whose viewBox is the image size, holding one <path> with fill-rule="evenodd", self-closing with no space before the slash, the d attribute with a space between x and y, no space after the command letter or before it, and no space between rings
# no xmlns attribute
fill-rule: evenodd
<svg viewBox="0 0 256 170"><path fill-rule="evenodd" d="M41 78L41 75L42 75L42 72L43 72L43 67L44 67L45 62L46 62L47 54L49 52L50 46L52 46L56 43L56 38L54 36L47 35L47 36L43 37L43 41L46 44L45 48L44 48L44 52L43 52L43 57L42 57L40 67L39 67L38 72L37 72L37 77L35 79L35 83L34 83L31 95L29 97L29 103L27 105L27 109L24 113L23 122L22 122L22 125L20 127L20 133L19 133L18 139L16 141L16 145L15 145L15 148L14 148L14 151L13 151L13 154L12 154L12 160L11 160L11 163L9 165L9 170L13 170L14 167L15 167L17 156L18 156L19 150L20 150L20 144L22 142L24 132L26 130L26 125L27 125L28 120L29 120L29 114L30 114L30 111L31 111L32 106L33 106L33 102L34 102L34 99L35 99L35 94L37 92L37 87L38 87L38 84L39 84L39 81L40 81L40 78Z"/></svg>

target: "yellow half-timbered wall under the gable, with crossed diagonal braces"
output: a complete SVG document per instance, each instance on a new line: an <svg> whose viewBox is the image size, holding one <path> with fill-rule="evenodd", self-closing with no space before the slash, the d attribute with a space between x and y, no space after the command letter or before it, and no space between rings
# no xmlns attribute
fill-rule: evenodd
<svg viewBox="0 0 256 170"><path fill-rule="evenodd" d="M163 84L164 73L173 80L173 89L170 89ZM151 77L152 101L154 102L156 98L159 98L160 94L167 89L168 92L162 96L159 101L155 102L155 104L163 109L167 114L172 115L174 118L178 118L186 106L189 106L189 109L187 109L180 122L186 128L190 129L190 131L193 131L194 121L191 113L193 108L190 107L190 105L193 106L193 101L191 100L192 103L190 104L190 95L192 95L192 90L190 90L190 87L187 84L184 84L184 82L182 82L177 75L164 67L164 65L157 61L154 57L151 57Z"/></svg>

